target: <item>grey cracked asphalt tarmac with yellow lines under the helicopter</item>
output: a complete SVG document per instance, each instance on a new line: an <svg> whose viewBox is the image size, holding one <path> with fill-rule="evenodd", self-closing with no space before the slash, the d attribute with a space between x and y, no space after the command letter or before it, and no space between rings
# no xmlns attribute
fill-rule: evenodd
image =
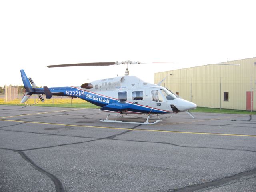
<svg viewBox="0 0 256 192"><path fill-rule="evenodd" d="M0 191L256 191L255 115L180 113L154 125L98 120L106 115L0 105Z"/></svg>

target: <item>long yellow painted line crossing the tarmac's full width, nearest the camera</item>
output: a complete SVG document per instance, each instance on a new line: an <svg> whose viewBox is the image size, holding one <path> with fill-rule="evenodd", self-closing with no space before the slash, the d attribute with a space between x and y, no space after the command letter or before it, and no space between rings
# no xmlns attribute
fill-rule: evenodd
<svg viewBox="0 0 256 192"><path fill-rule="evenodd" d="M46 124L46 125L60 125L60 126L74 126L74 127L88 127L88 128L104 128L104 129L117 129L117 130L147 131L147 132L186 133L186 134L203 134L203 135L220 135L220 136L256 137L256 135L240 135L240 134L222 134L222 133L181 132L181 131L165 131L165 130L149 130L149 129L115 128L115 127L101 127L101 126L88 126L88 125L71 125L71 124L59 124L59 123L43 123L43 122L7 120L7 119L0 119L0 121L23 122L23 123L33 123L33 124Z"/></svg>

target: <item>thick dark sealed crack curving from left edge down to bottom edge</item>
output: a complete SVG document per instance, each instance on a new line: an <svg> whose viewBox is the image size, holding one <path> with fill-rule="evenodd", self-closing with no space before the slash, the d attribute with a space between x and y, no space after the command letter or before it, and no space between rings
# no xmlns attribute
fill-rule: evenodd
<svg viewBox="0 0 256 192"><path fill-rule="evenodd" d="M8 149L8 148L2 148L0 147L0 149L4 149L4 150L11 150L13 152L17 152L18 154L20 154L20 156L26 160L27 162L29 162L32 167L35 169L35 170L38 170L39 172L41 172L42 174L48 176L53 182L54 182L54 185L55 185L55 190L56 192L64 192L64 188L62 186L62 182L60 182L60 180L54 176L53 174L47 172L46 170L44 170L43 168L40 168L37 164L35 164L35 162L33 162L24 152L20 151L20 150L14 150L14 149Z"/></svg>

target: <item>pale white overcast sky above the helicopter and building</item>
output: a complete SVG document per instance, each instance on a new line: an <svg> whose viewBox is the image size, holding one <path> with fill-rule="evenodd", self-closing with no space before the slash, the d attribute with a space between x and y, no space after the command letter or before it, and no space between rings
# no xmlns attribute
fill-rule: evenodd
<svg viewBox="0 0 256 192"><path fill-rule="evenodd" d="M126 66L47 68L81 62L174 62L154 72L256 56L255 0L6 0L0 2L0 86L74 86L122 76Z"/></svg>

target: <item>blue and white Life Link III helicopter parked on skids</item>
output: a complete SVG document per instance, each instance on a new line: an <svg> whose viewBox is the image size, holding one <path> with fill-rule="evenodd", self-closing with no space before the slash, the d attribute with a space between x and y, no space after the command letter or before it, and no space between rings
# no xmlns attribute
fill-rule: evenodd
<svg viewBox="0 0 256 192"><path fill-rule="evenodd" d="M169 114L178 112L188 112L195 109L196 104L184 100L170 90L160 86L164 81L158 84L144 82L136 76L129 76L128 64L140 64L141 62L100 62L100 63L79 63L79 64L62 64L50 65L48 67L68 67L68 66L108 66L126 64L126 72L124 76L114 78L96 80L90 83L84 83L81 86L69 87L52 87L36 88L36 84L31 78L27 78L24 70L20 70L22 81L26 89L21 103L25 103L32 94L37 94L42 102L44 94L47 99L57 96L70 96L81 98L96 106L101 107L100 110L108 112L106 120L102 122L116 123L133 123L133 124L155 124L164 118L160 118L158 114ZM108 120L110 113L120 113L121 118L145 119L145 122L128 122L123 120ZM127 117L124 114L146 114L146 117ZM156 117L152 117L155 115ZM167 117L165 117L167 118ZM193 117L194 118L194 117ZM154 122L149 122L154 120Z"/></svg>

